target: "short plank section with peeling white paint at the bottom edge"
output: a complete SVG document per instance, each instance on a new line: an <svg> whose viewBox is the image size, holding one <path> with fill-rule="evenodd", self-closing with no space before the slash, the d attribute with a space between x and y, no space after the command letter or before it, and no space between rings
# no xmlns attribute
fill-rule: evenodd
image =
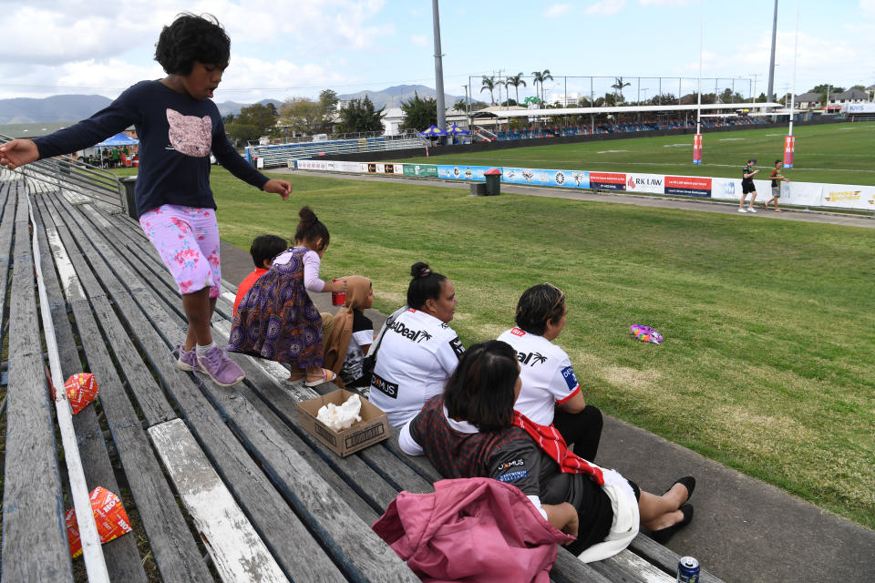
<svg viewBox="0 0 875 583"><path fill-rule="evenodd" d="M188 427L180 419L173 419L149 427L149 436L221 580L287 582Z"/></svg>

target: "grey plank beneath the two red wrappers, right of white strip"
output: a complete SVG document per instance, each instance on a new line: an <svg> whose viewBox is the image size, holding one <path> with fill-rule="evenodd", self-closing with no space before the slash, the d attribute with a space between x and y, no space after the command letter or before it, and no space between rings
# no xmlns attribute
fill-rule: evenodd
<svg viewBox="0 0 875 583"><path fill-rule="evenodd" d="M62 374L66 379L71 374L82 372L83 369L73 330L67 317L67 302L57 281L54 262L51 260L52 249L46 239L46 230L42 224L41 215L36 209L34 219L36 220L36 237L40 256L43 258L41 261L42 277L46 286L48 307L55 326ZM107 445L98 422L98 416L95 413L94 404L88 404L78 414L73 415L73 427L77 435L79 456L88 482L88 490L91 491L97 486L102 486L120 496L120 488L109 461ZM130 511L131 508L128 510ZM128 537L118 537L103 545L103 555L110 580L131 583L147 580L146 570L143 568L137 550L137 534L135 532Z"/></svg>

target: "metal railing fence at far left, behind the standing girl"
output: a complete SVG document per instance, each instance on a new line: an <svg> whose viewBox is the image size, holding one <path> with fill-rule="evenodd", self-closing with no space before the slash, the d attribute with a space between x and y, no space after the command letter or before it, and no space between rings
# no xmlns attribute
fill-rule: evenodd
<svg viewBox="0 0 875 583"><path fill-rule="evenodd" d="M0 134L0 144L12 138ZM118 177L68 156L42 159L22 166L16 171L26 179L36 180L48 187L67 190L74 203L98 202L110 212L127 212L125 187Z"/></svg>

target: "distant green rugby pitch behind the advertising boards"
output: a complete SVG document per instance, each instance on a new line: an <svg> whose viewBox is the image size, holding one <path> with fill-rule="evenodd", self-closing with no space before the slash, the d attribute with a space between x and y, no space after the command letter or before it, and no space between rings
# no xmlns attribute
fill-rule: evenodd
<svg viewBox="0 0 875 583"><path fill-rule="evenodd" d="M440 148L432 148L430 158L398 161L741 178L747 159L756 158L763 169L770 169L776 159L783 159L786 134L787 128L704 132L701 166L693 164L692 135L648 138L646 133L628 139L446 156L439 155ZM796 158L793 168L785 171L788 179L875 185L875 122L796 126L793 135L796 136ZM526 141L549 143L549 139ZM766 170L759 177L767 174Z"/></svg>

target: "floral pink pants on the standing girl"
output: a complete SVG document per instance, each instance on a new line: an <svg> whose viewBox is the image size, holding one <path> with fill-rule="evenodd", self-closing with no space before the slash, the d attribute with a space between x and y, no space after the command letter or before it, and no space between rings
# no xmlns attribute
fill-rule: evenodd
<svg viewBox="0 0 875 583"><path fill-rule="evenodd" d="M219 225L216 211L165 204L144 212L139 224L170 270L180 293L210 288L220 295Z"/></svg>

